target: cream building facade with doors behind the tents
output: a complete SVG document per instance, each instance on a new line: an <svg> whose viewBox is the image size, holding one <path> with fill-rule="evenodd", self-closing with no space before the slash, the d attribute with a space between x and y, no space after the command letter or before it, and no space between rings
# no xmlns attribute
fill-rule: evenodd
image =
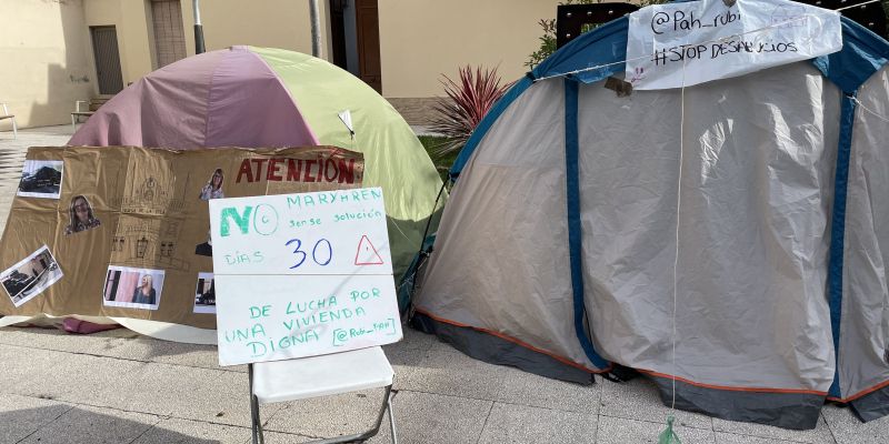
<svg viewBox="0 0 889 444"><path fill-rule="evenodd" d="M423 123L442 74L528 70L558 0L318 0L320 57ZM311 53L310 2L200 1L208 51L236 44ZM70 121L74 101L112 97L194 54L192 0L0 0L0 102L21 127ZM0 128L4 130L4 128Z"/></svg>

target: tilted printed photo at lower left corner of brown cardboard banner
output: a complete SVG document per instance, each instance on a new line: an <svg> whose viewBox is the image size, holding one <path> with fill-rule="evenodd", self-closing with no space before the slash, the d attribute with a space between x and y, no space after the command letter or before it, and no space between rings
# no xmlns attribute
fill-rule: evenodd
<svg viewBox="0 0 889 444"><path fill-rule="evenodd" d="M3 270L0 273L0 282L12 300L12 304L20 306L42 293L62 276L62 270L56 262L56 258L52 256L49 248L43 245L19 263Z"/></svg>

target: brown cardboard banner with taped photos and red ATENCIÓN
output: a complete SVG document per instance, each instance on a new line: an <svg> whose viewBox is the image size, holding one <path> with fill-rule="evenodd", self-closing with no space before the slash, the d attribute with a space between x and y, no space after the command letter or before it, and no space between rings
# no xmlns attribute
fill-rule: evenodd
<svg viewBox="0 0 889 444"><path fill-rule="evenodd" d="M0 314L216 329L209 202L362 178L361 154L331 147L32 148L0 241Z"/></svg>

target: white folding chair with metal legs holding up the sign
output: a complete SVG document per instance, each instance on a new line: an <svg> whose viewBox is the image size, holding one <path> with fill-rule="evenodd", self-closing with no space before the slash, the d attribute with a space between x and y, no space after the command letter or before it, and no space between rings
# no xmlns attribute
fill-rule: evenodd
<svg viewBox="0 0 889 444"><path fill-rule="evenodd" d="M370 438L379 432L382 416L387 411L392 444L398 443L391 397L394 372L379 346L299 360L254 363L248 365L248 373L253 444L264 443L259 417L260 404L332 396L380 387L386 387L386 394L371 430L311 443L333 444Z"/></svg>

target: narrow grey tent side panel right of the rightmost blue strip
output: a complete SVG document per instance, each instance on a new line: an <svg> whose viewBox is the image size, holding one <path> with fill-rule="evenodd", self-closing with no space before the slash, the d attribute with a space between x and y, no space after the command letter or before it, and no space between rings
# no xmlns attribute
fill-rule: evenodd
<svg viewBox="0 0 889 444"><path fill-rule="evenodd" d="M839 306L838 372L830 396L850 402L866 421L889 414L889 72L883 68L857 91L851 147L845 154L847 195L842 262L831 270ZM837 215L839 218L839 215ZM836 235L836 230L835 230ZM838 235L836 238L839 238ZM836 240L835 238L835 240ZM839 262L839 261L838 261Z"/></svg>

